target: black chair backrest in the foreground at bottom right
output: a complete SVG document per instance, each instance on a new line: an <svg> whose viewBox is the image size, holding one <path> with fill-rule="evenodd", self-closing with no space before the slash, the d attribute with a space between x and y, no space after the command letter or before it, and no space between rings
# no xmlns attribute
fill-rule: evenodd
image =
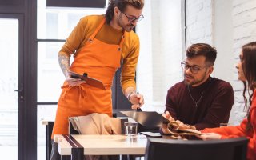
<svg viewBox="0 0 256 160"><path fill-rule="evenodd" d="M246 160L247 138L174 140L148 138L145 160Z"/></svg>

